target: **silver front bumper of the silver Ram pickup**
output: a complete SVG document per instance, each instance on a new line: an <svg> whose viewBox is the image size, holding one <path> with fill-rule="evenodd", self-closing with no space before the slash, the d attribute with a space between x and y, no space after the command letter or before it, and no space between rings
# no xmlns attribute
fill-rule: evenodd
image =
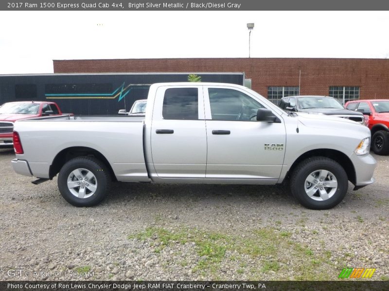
<svg viewBox="0 0 389 291"><path fill-rule="evenodd" d="M375 168L377 167L377 161L375 161L370 154L366 156L357 156L353 153L350 160L353 162L355 169L355 186L363 187L370 185L375 181L373 174ZM356 189L362 187L356 187Z"/></svg>

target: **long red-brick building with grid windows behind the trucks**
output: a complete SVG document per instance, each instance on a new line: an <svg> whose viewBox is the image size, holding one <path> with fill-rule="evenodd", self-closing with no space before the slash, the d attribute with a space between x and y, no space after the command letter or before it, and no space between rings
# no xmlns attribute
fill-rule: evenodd
<svg viewBox="0 0 389 291"><path fill-rule="evenodd" d="M389 97L389 59L191 58L54 60L54 73L245 72L252 89L276 102L289 95L340 101Z"/></svg>

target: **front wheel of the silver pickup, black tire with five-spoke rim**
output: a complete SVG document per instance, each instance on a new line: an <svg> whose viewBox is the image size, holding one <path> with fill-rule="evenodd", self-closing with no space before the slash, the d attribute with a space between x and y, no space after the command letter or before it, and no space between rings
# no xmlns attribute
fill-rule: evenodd
<svg viewBox="0 0 389 291"><path fill-rule="evenodd" d="M325 157L308 158L300 162L290 178L292 194L301 205L314 210L335 207L343 200L348 186L348 177L343 167Z"/></svg>

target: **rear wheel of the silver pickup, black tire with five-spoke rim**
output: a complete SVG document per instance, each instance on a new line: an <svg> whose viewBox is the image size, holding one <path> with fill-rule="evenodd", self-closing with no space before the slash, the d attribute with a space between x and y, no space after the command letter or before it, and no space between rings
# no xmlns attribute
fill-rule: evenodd
<svg viewBox="0 0 389 291"><path fill-rule="evenodd" d="M78 177L74 173L79 173ZM59 171L58 189L74 206L94 206L106 197L110 178L103 162L93 157L78 157L66 162Z"/></svg>

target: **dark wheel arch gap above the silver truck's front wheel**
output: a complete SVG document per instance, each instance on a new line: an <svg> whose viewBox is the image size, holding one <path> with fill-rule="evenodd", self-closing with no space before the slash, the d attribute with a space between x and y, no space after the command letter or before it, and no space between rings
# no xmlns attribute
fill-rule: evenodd
<svg viewBox="0 0 389 291"><path fill-rule="evenodd" d="M296 159L295 162L293 162L286 177L290 178L291 173L294 171L294 169L300 162L312 157L326 157L338 162L345 170L349 181L355 184L356 174L355 174L355 168L353 162L351 162L350 158L347 157L341 151L335 149L328 149L328 148L313 149L303 153L300 157Z"/></svg>

